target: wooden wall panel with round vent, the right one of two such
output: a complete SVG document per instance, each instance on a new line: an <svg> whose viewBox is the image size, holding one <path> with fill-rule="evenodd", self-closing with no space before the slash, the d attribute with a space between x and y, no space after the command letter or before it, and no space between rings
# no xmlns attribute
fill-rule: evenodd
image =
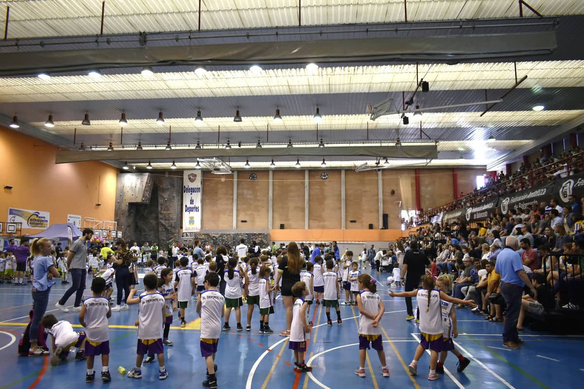
<svg viewBox="0 0 584 389"><path fill-rule="evenodd" d="M321 179L324 171L328 179ZM340 228L340 170L312 170L308 179L308 228Z"/></svg>

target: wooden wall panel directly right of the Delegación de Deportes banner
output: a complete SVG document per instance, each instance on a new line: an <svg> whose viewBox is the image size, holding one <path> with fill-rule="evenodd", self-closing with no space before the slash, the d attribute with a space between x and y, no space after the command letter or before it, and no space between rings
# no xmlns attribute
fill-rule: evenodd
<svg viewBox="0 0 584 389"><path fill-rule="evenodd" d="M233 176L203 173L201 228L233 228Z"/></svg>

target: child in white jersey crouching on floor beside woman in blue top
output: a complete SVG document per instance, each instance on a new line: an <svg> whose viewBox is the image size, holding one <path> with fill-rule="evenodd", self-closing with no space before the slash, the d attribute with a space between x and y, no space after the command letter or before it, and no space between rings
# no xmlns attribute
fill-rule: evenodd
<svg viewBox="0 0 584 389"><path fill-rule="evenodd" d="M53 338L53 356L51 365L56 366L61 361L67 360L69 348L77 348L75 359L85 358L85 333L76 333L73 326L67 320L58 321L54 314L46 314L41 320L43 327Z"/></svg>

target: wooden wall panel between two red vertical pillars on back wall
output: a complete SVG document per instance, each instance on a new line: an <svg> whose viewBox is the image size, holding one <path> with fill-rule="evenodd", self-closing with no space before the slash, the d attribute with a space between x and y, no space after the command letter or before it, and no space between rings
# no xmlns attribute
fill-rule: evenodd
<svg viewBox="0 0 584 389"><path fill-rule="evenodd" d="M454 201L453 185L452 169L420 169L420 207L427 210Z"/></svg>

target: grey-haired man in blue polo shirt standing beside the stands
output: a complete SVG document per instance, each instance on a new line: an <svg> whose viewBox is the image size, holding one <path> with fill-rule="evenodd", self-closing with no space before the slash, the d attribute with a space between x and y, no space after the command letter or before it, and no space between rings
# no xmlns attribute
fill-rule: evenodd
<svg viewBox="0 0 584 389"><path fill-rule="evenodd" d="M503 324L503 346L512 349L518 349L519 344L522 343L517 334L517 319L519 319L522 305L523 287L527 285L533 293L533 298L537 299L536 288L523 270L523 263L521 256L516 252L517 249L519 249L517 238L507 236L505 249L501 250L495 264L496 273L501 275L501 294L507 304L507 314L505 324Z"/></svg>

